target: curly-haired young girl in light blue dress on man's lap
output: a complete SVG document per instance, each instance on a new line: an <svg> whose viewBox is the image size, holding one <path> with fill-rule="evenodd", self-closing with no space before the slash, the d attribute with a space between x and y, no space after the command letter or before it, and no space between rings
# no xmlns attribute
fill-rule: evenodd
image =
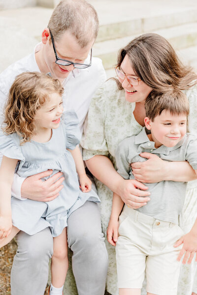
<svg viewBox="0 0 197 295"><path fill-rule="evenodd" d="M66 226L68 216L87 200L99 202L86 176L79 144L80 131L74 112L63 115L59 80L27 72L18 75L10 89L0 134L0 247L20 230L29 235L50 227L54 237L49 294L63 294L68 267ZM75 167L76 166L76 167ZM22 201L11 197L16 171L29 177L53 170L64 175L60 195L50 202ZM79 189L79 182L81 190ZM44 179L43 179L44 181ZM12 226L13 224L13 226Z"/></svg>

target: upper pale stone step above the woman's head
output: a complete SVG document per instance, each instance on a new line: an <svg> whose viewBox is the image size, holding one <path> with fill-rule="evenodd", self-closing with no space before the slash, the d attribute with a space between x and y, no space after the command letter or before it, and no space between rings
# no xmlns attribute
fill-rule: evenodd
<svg viewBox="0 0 197 295"><path fill-rule="evenodd" d="M140 18L139 15L136 15L135 18L132 17L122 22L118 22L118 19L111 20L109 17L108 23L100 25L96 42L197 22L197 8L176 7L176 11L172 8L166 11L166 7L164 7L163 10L153 10L148 16L144 13L144 16L142 15Z"/></svg>

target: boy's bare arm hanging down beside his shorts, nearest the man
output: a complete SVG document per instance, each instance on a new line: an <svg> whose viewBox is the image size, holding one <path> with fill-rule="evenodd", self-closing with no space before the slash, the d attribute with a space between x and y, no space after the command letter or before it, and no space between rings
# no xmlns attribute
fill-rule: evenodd
<svg viewBox="0 0 197 295"><path fill-rule="evenodd" d="M107 240L112 245L115 246L118 239L118 228L119 228L119 215L124 206L124 202L121 197L117 194L113 194L111 216L109 220L109 225L107 228Z"/></svg>

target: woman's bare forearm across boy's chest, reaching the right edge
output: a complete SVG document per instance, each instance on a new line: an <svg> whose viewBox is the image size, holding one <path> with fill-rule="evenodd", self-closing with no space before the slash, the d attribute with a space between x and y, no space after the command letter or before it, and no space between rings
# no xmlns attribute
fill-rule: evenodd
<svg viewBox="0 0 197 295"><path fill-rule="evenodd" d="M185 162L165 162L164 180L191 181L197 179L195 170Z"/></svg>

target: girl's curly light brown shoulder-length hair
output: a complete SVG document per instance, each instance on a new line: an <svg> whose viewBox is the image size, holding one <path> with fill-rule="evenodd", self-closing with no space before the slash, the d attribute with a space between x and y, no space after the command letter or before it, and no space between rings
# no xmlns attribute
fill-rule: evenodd
<svg viewBox="0 0 197 295"><path fill-rule="evenodd" d="M58 79L39 72L18 75L9 90L3 131L6 134L16 132L22 137L21 144L30 141L35 134L35 113L54 92L60 95L64 92Z"/></svg>

